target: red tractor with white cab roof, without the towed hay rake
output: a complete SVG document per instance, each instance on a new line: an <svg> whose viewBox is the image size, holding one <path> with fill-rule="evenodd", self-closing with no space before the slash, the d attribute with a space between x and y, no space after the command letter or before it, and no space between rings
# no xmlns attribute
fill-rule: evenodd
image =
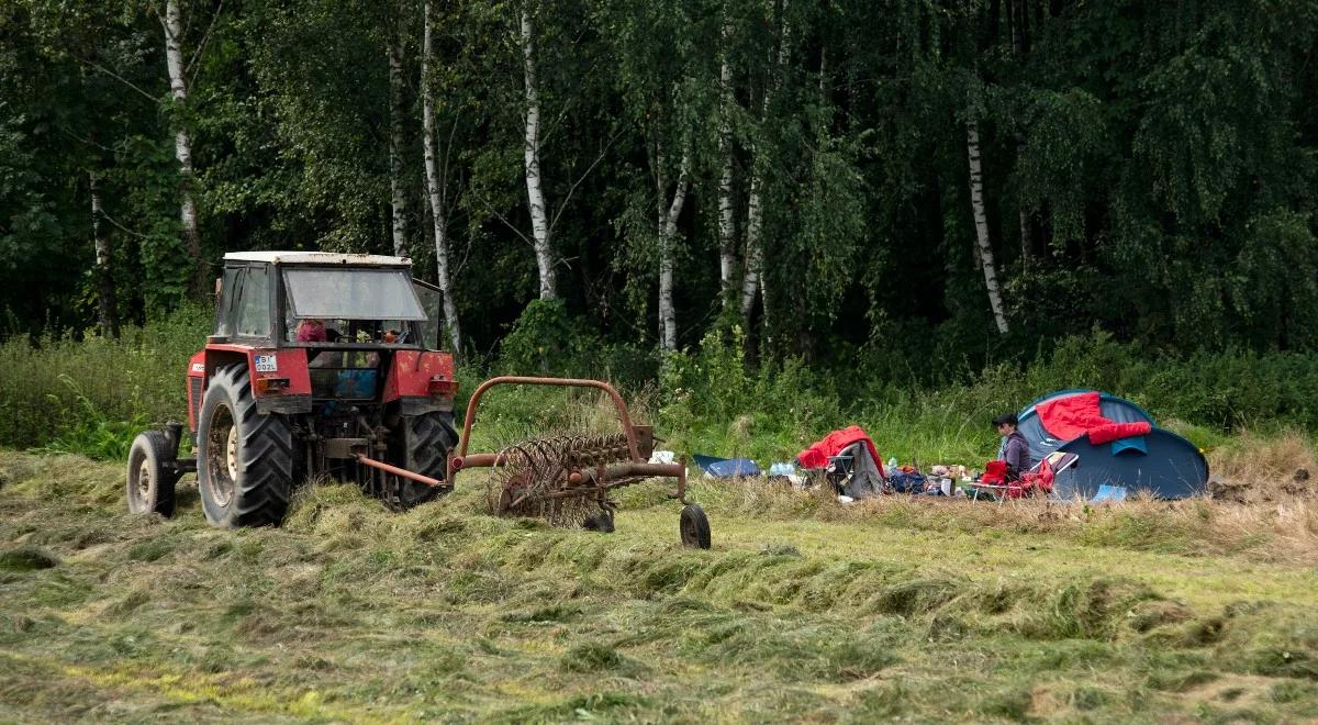
<svg viewBox="0 0 1318 725"><path fill-rule="evenodd" d="M170 515L174 484L196 471L206 518L279 523L295 481L356 480L406 509L447 490L453 357L423 301L438 290L398 257L328 252L224 256L214 334L187 370L196 459L182 426L140 435L129 453L132 511Z"/></svg>

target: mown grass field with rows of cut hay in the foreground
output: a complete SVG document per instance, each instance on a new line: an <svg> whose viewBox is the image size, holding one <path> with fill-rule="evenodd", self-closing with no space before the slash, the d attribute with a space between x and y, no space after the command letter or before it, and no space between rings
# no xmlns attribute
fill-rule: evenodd
<svg viewBox="0 0 1318 725"><path fill-rule="evenodd" d="M307 489L224 531L192 477L0 452L0 720L1318 718L1318 506L838 509L658 482L604 535Z"/></svg>

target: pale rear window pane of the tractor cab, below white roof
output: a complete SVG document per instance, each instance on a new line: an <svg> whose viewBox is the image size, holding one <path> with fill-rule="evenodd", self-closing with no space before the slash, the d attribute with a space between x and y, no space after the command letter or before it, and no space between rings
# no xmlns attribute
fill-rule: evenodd
<svg viewBox="0 0 1318 725"><path fill-rule="evenodd" d="M424 320L411 281L402 269L286 269L293 318L343 320Z"/></svg>

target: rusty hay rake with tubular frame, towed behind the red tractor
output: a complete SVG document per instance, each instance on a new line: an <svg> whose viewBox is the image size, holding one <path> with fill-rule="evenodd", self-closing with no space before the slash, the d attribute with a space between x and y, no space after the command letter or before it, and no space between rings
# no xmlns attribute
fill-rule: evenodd
<svg viewBox="0 0 1318 725"><path fill-rule="evenodd" d="M556 435L521 442L496 453L468 453L476 410L485 393L498 385L593 388L612 398L622 432ZM543 518L558 526L613 530L617 504L610 492L648 478L676 478L668 498L683 504L679 531L689 547L709 548L709 519L687 500L687 463L648 463L654 428L634 426L622 395L598 380L503 376L486 380L467 403L457 451L448 459L448 485L468 468L493 469L486 482L490 511Z"/></svg>

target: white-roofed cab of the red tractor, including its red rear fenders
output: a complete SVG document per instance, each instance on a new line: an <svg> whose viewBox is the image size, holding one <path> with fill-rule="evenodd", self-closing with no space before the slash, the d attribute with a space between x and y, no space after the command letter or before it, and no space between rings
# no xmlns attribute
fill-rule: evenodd
<svg viewBox="0 0 1318 725"><path fill-rule="evenodd" d="M451 413L452 357L428 352L439 336L438 290L411 278L410 261L328 252L243 252L224 257L214 334L192 360L190 423L217 364L250 357L253 393L265 410L306 413L327 401L439 406ZM398 360L424 364L390 374ZM413 370L415 372L415 370ZM402 377L413 385L398 389ZM431 385L434 384L434 385ZM409 395L407 393L416 393ZM447 395L444 394L447 393Z"/></svg>

